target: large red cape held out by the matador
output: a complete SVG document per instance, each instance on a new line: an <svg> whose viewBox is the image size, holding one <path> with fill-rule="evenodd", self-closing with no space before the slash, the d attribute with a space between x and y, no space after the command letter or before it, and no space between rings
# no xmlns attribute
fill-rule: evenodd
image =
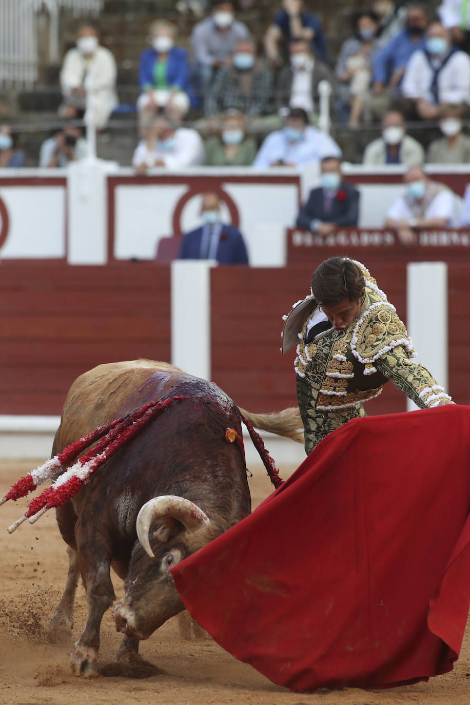
<svg viewBox="0 0 470 705"><path fill-rule="evenodd" d="M292 690L452 670L470 603L470 407L354 419L171 571L187 609Z"/></svg>

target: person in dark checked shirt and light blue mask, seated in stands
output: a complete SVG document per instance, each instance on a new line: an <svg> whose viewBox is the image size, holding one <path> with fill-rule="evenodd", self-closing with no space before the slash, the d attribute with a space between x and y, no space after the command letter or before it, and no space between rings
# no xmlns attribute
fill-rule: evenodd
<svg viewBox="0 0 470 705"><path fill-rule="evenodd" d="M206 94L204 109L213 117L228 110L240 110L247 116L268 113L273 90L273 74L264 61L256 59L251 39L235 45L229 66L221 67Z"/></svg>

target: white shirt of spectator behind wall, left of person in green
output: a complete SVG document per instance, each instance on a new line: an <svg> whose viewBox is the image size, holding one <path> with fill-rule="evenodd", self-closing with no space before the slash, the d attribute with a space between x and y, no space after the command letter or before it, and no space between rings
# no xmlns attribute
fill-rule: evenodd
<svg viewBox="0 0 470 705"><path fill-rule="evenodd" d="M173 149L160 149L158 140L155 141L153 151L147 148L146 140L141 140L135 148L132 157L132 166L154 166L155 161L163 161L169 169L196 166L204 161L204 144L199 133L190 128L175 130L175 146Z"/></svg>

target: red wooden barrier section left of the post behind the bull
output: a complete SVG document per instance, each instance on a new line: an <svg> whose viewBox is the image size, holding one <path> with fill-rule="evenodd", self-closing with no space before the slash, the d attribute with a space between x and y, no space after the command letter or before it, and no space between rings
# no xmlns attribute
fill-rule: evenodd
<svg viewBox="0 0 470 705"><path fill-rule="evenodd" d="M170 359L170 271L153 263L0 266L0 414L60 414L102 362Z"/></svg>

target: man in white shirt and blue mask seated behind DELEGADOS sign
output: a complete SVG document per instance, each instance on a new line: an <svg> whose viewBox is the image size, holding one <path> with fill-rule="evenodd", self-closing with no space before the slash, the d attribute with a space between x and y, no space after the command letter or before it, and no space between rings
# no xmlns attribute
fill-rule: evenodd
<svg viewBox="0 0 470 705"><path fill-rule="evenodd" d="M423 228L451 228L455 225L452 191L431 181L421 166L412 166L404 175L406 195L400 196L387 213L385 228L395 231L402 245L416 243L416 231Z"/></svg>

